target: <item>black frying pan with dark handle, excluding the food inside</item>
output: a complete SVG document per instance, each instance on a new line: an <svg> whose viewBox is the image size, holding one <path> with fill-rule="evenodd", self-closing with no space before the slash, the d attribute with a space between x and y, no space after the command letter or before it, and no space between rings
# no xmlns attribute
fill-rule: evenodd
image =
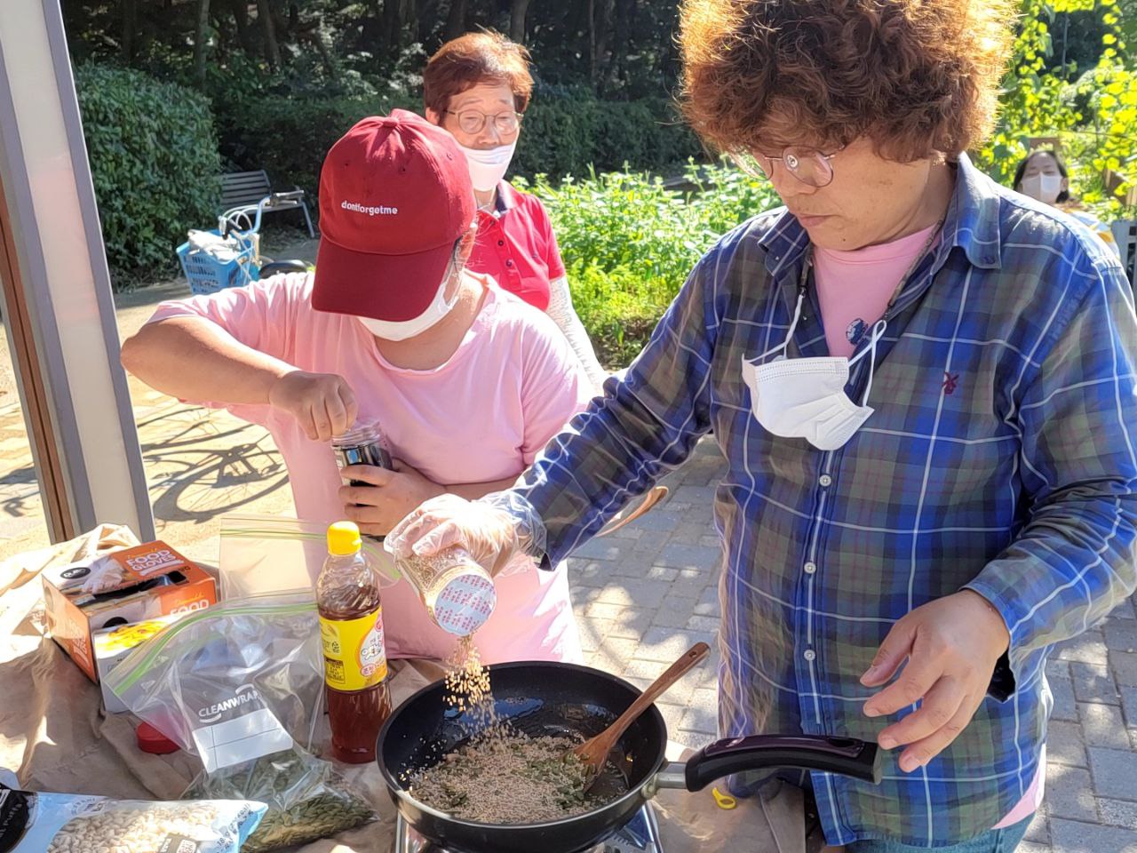
<svg viewBox="0 0 1137 853"><path fill-rule="evenodd" d="M639 695L623 679L571 663L503 663L489 669L498 717L533 736L592 737ZM437 764L468 739L474 727L471 712L448 707L443 693L443 682L435 681L396 707L379 734L375 752L388 793L404 820L428 840L462 853L578 853L631 820L659 788L702 790L742 770L792 767L880 781L877 745L853 738L750 735L717 740L686 763L667 763L667 729L653 705L628 728L613 754L626 781L625 792L572 818L479 823L432 809L407 792L412 773Z"/></svg>

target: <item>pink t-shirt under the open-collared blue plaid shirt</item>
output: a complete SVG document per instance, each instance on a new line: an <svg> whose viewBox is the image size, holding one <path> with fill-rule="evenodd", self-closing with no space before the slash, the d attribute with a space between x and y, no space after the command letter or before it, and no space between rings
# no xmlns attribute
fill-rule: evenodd
<svg viewBox="0 0 1137 853"><path fill-rule="evenodd" d="M872 333L872 325L885 315L901 276L924 248L935 227L852 251L814 248L818 301L829 355L847 358L862 337ZM1043 802L1045 771L1044 746L1030 787L995 829L1013 826L1038 810Z"/></svg>

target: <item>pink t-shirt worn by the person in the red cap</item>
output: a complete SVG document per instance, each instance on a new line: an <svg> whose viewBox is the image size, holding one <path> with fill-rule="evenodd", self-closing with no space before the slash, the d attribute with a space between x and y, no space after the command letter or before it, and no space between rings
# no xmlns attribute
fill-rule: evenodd
<svg viewBox="0 0 1137 853"><path fill-rule="evenodd" d="M395 367L355 317L315 310L306 273L163 303L150 322L206 317L302 371L338 374L356 394L359 419L379 421L393 456L439 483L500 480L520 474L587 405L590 386L551 320L492 279L476 278L487 289L481 312L455 354L429 371ZM342 517L342 481L327 445L267 405L224 407L272 433L299 517ZM475 636L482 660L581 660L563 569L533 568L496 586L497 607ZM455 646L405 580L383 590L383 627L391 657L445 659Z"/></svg>

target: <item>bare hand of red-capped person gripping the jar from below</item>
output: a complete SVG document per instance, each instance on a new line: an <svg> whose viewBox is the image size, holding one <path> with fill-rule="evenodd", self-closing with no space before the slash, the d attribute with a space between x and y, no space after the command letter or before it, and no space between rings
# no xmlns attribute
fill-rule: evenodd
<svg viewBox="0 0 1137 853"><path fill-rule="evenodd" d="M446 492L401 459L392 459L393 471L372 465L349 465L340 473L346 480L368 486L341 486L343 514L359 525L359 532L387 536L412 510Z"/></svg>

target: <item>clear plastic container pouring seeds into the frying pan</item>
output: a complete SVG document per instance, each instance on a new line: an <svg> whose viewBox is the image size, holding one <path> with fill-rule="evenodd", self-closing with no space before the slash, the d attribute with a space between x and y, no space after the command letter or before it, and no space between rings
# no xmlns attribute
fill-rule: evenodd
<svg viewBox="0 0 1137 853"><path fill-rule="evenodd" d="M429 557L396 557L395 564L443 631L468 637L493 613L493 579L465 548L447 548Z"/></svg>

